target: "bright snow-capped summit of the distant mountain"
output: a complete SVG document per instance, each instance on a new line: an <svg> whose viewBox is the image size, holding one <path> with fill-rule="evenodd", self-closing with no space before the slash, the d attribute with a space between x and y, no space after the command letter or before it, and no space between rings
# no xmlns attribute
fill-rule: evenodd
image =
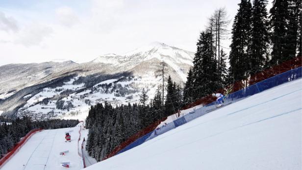
<svg viewBox="0 0 302 170"><path fill-rule="evenodd" d="M163 61L177 73L178 77L175 76L174 79L181 82L186 80L187 70L193 65L193 58L193 52L168 46L164 43L153 42L147 46L134 49L122 55L102 55L92 62L112 64L115 66L118 65L126 70L131 70L144 62L148 63L149 61L152 61L153 63L160 63Z"/></svg>

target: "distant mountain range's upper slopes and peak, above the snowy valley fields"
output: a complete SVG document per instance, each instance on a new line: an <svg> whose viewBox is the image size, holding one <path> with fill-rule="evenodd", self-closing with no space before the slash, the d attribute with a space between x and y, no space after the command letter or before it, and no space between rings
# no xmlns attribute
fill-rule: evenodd
<svg viewBox="0 0 302 170"><path fill-rule="evenodd" d="M87 90L109 79L133 78L137 81L133 82L133 79L128 81L136 84L131 88L133 92L139 94L140 86L146 87L149 88L149 95L152 98L155 88L161 83L158 70L162 62L165 63L166 75L170 75L174 81L182 84L186 81L189 68L193 66L193 58L194 52L155 42L122 55L105 54L81 64L70 60L55 60L0 66L0 114L16 116L18 110L22 109L34 95L41 93L45 88L62 87L71 80L73 85L82 83L83 87L79 89L85 91L83 89ZM25 97L26 95L28 96ZM112 98L114 97L111 97L111 100ZM90 104L94 102L97 101ZM129 102L135 102L135 99ZM125 102L115 101L115 103Z"/></svg>

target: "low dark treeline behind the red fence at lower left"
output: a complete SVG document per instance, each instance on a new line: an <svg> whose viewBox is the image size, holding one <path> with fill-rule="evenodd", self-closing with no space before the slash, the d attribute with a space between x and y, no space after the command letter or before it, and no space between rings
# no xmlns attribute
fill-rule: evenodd
<svg viewBox="0 0 302 170"><path fill-rule="evenodd" d="M15 146L22 137L35 128L57 129L74 127L78 120L49 120L30 121L29 117L23 119L0 119L0 158Z"/></svg>

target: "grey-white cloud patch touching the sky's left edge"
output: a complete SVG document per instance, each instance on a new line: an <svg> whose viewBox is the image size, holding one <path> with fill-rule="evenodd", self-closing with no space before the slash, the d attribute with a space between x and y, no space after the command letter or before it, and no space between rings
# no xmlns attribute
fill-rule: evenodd
<svg viewBox="0 0 302 170"><path fill-rule="evenodd" d="M6 32L17 32L19 27L17 25L17 21L13 17L7 17L0 11L0 29Z"/></svg>

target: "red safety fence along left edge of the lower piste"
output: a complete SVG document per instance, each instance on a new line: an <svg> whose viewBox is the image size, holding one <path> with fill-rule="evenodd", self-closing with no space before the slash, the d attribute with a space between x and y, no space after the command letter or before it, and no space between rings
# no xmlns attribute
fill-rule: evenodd
<svg viewBox="0 0 302 170"><path fill-rule="evenodd" d="M13 147L13 149L0 159L0 169L21 149L22 146L31 138L31 136L43 129L33 129L29 131L25 137Z"/></svg>

